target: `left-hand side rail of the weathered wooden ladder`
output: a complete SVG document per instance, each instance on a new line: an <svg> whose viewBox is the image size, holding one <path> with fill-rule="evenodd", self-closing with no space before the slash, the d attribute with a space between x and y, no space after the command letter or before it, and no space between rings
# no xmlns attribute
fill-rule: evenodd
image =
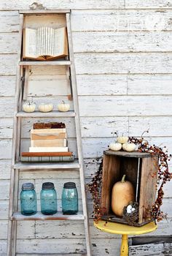
<svg viewBox="0 0 172 256"><path fill-rule="evenodd" d="M23 34L23 14L20 14L20 29L19 29L19 43L18 43L18 54L17 54L17 73L16 73L16 87L15 87L15 111L13 118L13 133L12 133L12 168L11 168L11 177L10 177L10 188L9 188L9 225L8 225L8 237L7 237L7 256L13 256L15 252L16 246L16 222L12 222L10 219L12 217L12 213L14 211L14 192L15 192L15 147L16 147L16 134L17 134L17 108L18 108L18 100L20 93L20 66L18 65L20 61L21 54L21 45L22 45L22 34Z"/></svg>

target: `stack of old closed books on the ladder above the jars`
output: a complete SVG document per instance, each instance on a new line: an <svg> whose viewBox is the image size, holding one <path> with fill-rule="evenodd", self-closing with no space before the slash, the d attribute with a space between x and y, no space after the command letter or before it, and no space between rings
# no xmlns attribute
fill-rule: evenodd
<svg viewBox="0 0 172 256"><path fill-rule="evenodd" d="M22 152L22 162L71 162L66 127L63 123L36 123L31 129L29 152Z"/></svg>

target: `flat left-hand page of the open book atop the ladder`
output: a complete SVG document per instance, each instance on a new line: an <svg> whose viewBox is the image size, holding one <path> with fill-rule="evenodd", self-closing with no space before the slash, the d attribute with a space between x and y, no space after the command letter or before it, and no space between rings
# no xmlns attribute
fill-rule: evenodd
<svg viewBox="0 0 172 256"><path fill-rule="evenodd" d="M24 50L23 57L24 58L36 58L36 29L28 29L26 28L24 31Z"/></svg>

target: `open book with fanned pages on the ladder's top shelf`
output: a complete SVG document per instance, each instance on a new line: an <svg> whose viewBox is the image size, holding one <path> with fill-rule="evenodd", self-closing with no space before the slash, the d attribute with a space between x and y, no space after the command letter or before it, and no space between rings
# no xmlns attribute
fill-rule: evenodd
<svg viewBox="0 0 172 256"><path fill-rule="evenodd" d="M49 61L68 55L66 28L23 30L23 59Z"/></svg>

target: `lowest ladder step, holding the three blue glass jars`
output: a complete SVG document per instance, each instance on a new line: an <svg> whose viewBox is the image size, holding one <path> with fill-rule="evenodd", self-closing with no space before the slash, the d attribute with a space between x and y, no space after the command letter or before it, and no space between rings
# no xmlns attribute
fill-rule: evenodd
<svg viewBox="0 0 172 256"><path fill-rule="evenodd" d="M37 212L34 215L26 216L21 214L20 212L15 212L11 220L79 220L79 219L85 219L82 211L79 211L77 214L74 215L64 215L61 211L59 211L57 214L53 215L44 215L40 211Z"/></svg>

